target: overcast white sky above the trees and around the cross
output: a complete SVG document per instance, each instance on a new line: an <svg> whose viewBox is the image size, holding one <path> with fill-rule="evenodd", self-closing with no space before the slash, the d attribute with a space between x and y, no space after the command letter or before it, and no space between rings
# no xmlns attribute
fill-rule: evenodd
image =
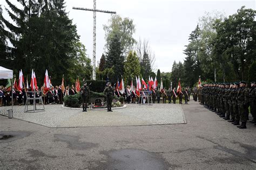
<svg viewBox="0 0 256 170"><path fill-rule="evenodd" d="M0 4L7 6L4 0L0 0ZM155 67L161 72L170 72L174 60L184 61L186 56L183 50L188 44L188 36L205 12L220 12L229 16L243 5L256 9L255 0L96 0L97 9L116 11L123 18L133 19L136 26L134 38L149 41L156 55ZM77 25L80 41L87 49L87 56L92 59L93 12L73 10L73 6L93 8L93 0L66 0L66 11L70 19L73 19L73 24ZM6 11L3 11L3 15L8 17ZM103 25L109 22L110 17L109 13L97 12L96 63L104 52Z"/></svg>

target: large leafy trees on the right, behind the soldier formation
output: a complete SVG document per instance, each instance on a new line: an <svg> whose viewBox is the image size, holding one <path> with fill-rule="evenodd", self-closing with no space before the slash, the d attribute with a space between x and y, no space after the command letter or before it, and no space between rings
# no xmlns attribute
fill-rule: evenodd
<svg viewBox="0 0 256 170"><path fill-rule="evenodd" d="M214 81L214 72L217 81L249 79L256 54L255 15L255 10L242 6L227 18L219 13L201 17L184 50L185 84L193 85L198 76Z"/></svg>

